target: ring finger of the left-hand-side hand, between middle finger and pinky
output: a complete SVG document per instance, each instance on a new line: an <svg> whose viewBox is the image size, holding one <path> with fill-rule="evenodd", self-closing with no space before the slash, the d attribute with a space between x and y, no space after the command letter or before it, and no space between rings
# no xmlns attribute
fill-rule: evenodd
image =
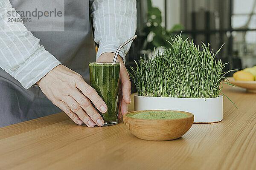
<svg viewBox="0 0 256 170"><path fill-rule="evenodd" d="M90 118L90 116L87 115L81 108L81 106L76 102L71 96L65 96L63 99L63 102L65 102L68 107L79 116L79 118L87 125L88 127L93 127L95 123Z"/></svg>

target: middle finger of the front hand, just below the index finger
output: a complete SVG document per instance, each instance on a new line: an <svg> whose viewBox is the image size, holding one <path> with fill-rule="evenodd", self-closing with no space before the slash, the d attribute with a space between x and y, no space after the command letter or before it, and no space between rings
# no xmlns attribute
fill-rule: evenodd
<svg viewBox="0 0 256 170"><path fill-rule="evenodd" d="M104 124L104 120L100 116L100 114L96 111L95 108L91 105L91 102L87 97L81 94L77 89L74 89L70 92L70 96L79 103L81 108L90 116L90 118L95 122L98 126L102 126Z"/></svg>

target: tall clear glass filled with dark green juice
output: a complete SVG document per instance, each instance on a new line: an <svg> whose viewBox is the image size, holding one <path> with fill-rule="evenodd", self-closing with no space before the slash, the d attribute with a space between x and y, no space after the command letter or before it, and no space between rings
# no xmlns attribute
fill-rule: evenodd
<svg viewBox="0 0 256 170"><path fill-rule="evenodd" d="M118 124L120 62L90 62L90 86L96 90L108 107L101 113L103 126Z"/></svg>

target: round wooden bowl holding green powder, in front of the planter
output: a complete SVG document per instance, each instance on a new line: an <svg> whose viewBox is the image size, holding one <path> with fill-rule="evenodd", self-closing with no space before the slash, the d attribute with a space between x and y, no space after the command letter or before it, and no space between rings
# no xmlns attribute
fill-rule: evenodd
<svg viewBox="0 0 256 170"><path fill-rule="evenodd" d="M163 111L163 110L148 110L148 111ZM167 111L167 110L165 110ZM129 113L141 113L146 111L133 111ZM182 112L188 115L185 118L180 119L137 119L123 116L125 126L130 132L140 138L150 141L167 141L178 139L183 136L192 126L194 122L194 115L189 112Z"/></svg>

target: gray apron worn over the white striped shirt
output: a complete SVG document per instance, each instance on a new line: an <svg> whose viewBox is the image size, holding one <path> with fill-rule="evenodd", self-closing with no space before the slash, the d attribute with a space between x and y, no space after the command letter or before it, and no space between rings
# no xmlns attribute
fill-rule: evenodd
<svg viewBox="0 0 256 170"><path fill-rule="evenodd" d="M31 5L31 0L10 2L16 11ZM88 62L95 62L89 1L65 0L64 11L64 31L32 31L32 34L63 65L81 74L88 82ZM0 127L58 112L61 110L47 99L38 86L26 90L0 68Z"/></svg>

